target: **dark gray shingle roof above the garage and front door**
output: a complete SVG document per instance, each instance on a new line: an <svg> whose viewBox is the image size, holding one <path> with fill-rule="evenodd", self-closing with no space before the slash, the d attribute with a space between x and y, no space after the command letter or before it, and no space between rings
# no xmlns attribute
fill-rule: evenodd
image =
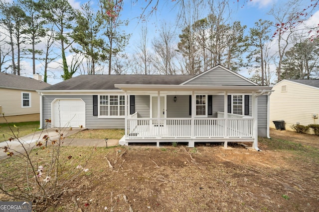
<svg viewBox="0 0 319 212"><path fill-rule="evenodd" d="M114 90L114 84L178 85L195 75L79 75L43 90Z"/></svg>

